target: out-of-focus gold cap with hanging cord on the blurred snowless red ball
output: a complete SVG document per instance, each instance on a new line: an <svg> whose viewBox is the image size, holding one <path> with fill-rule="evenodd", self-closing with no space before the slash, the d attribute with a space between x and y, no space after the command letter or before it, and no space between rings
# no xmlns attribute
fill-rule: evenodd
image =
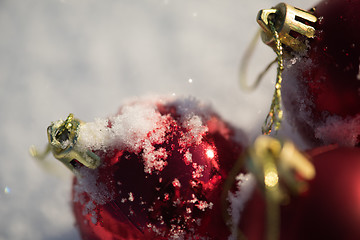
<svg viewBox="0 0 360 240"><path fill-rule="evenodd" d="M307 188L315 167L295 145L286 140L259 136L248 149L247 167L263 189L266 203L266 238L280 239L280 206ZM298 178L298 175L302 177Z"/></svg>

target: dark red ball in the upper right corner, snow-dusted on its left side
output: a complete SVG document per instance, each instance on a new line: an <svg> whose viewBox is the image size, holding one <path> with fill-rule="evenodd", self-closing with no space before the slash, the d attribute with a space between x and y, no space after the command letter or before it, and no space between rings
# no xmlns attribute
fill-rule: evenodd
<svg viewBox="0 0 360 240"><path fill-rule="evenodd" d="M287 59L287 117L312 146L360 144L360 1L323 0L314 10L316 37Z"/></svg>

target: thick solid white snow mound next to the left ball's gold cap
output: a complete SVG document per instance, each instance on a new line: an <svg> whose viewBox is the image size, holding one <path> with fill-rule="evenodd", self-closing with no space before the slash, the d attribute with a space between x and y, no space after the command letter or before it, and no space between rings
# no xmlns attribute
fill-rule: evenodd
<svg viewBox="0 0 360 240"><path fill-rule="evenodd" d="M81 126L77 145L83 150L106 150L116 146L138 153L147 145L163 143L167 121L167 117L157 111L156 105L144 102L126 105L109 120L96 119Z"/></svg>

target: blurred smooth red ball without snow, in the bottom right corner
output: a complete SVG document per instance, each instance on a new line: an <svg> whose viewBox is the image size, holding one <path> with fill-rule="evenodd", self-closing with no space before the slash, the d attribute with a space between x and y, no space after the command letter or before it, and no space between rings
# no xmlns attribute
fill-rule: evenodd
<svg viewBox="0 0 360 240"><path fill-rule="evenodd" d="M316 176L305 193L281 207L280 239L360 239L360 149L330 145L308 154ZM247 239L265 239L265 202L259 190L241 219Z"/></svg>

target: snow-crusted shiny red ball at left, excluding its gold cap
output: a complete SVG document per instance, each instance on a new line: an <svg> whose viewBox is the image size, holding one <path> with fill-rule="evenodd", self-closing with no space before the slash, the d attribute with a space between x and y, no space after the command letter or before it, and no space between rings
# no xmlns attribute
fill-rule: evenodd
<svg viewBox="0 0 360 240"><path fill-rule="evenodd" d="M81 125L77 147L102 160L95 170L77 167L73 210L81 236L226 239L220 195L243 152L239 133L186 98L134 101Z"/></svg>

